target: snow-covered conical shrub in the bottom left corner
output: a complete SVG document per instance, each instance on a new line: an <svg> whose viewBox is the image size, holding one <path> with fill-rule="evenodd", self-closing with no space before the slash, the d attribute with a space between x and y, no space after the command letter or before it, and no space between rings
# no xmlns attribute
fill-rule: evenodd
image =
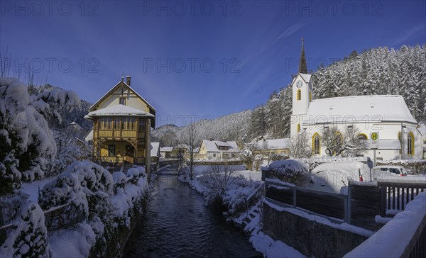
<svg viewBox="0 0 426 258"><path fill-rule="evenodd" d="M50 257L48 230L37 203L24 203L13 231L0 247L2 257Z"/></svg>

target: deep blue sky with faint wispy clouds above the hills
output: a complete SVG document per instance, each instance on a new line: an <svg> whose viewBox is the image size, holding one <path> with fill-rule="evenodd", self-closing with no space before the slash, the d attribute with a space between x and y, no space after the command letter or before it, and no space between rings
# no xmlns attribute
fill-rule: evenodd
<svg viewBox="0 0 426 258"><path fill-rule="evenodd" d="M426 43L425 1L46 3L0 2L9 74L31 69L90 102L131 75L158 125L264 103L297 72L302 37L314 70L353 50Z"/></svg>

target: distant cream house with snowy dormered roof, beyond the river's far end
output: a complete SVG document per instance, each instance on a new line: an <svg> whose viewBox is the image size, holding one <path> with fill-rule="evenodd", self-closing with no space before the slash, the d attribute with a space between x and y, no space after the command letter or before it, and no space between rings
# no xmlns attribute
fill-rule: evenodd
<svg viewBox="0 0 426 258"><path fill-rule="evenodd" d="M239 157L241 150L234 141L202 140L197 159L231 159Z"/></svg>

